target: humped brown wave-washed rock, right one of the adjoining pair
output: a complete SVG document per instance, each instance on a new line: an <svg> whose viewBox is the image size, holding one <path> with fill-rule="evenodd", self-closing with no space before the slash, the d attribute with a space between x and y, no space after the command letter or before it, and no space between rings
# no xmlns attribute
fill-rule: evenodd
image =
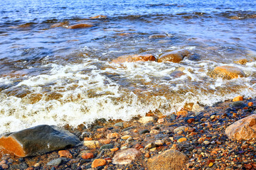
<svg viewBox="0 0 256 170"><path fill-rule="evenodd" d="M174 50L171 52L166 52L164 53L164 55L161 55L161 57L159 57L159 59L157 60L157 62L181 62L181 60L183 60L184 57L187 57L188 55L190 55L191 52L189 52L188 50Z"/></svg>

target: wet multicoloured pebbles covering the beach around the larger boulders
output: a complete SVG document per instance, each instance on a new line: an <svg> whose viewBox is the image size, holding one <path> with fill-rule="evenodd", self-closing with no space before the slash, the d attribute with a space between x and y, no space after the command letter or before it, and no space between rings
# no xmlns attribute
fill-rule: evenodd
<svg viewBox="0 0 256 170"><path fill-rule="evenodd" d="M3 154L1 166L5 162L8 169L146 169L148 159L167 149L176 149L188 157L188 169L256 169L255 140L237 142L225 135L229 125L255 113L256 106L247 106L248 102L256 103L256 98L237 102L238 106L229 100L204 107L200 113L188 111L188 115L175 118L150 113L145 117L150 119L144 123L139 123L142 118L136 117L130 121L100 119L87 129L66 126L80 140L98 141L99 145L65 149L70 157L58 151L24 158ZM136 148L140 156L131 164L112 164L114 154L127 148ZM92 157L85 157L89 153ZM47 165L60 157L60 164ZM106 163L92 168L95 159L104 159Z"/></svg>

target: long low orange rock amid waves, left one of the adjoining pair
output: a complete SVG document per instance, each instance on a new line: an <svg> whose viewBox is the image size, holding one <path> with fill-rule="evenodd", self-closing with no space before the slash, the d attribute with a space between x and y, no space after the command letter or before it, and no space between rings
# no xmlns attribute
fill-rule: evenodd
<svg viewBox="0 0 256 170"><path fill-rule="evenodd" d="M147 61L156 61L154 55L122 55L115 60L112 60L114 63L122 62L147 62Z"/></svg>

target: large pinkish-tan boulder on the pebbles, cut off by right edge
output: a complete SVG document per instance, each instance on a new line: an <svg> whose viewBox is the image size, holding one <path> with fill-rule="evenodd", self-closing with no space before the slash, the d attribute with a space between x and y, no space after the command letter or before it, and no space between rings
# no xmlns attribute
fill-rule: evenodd
<svg viewBox="0 0 256 170"><path fill-rule="evenodd" d="M256 114L236 121L225 129L225 134L231 140L252 140L256 138Z"/></svg>

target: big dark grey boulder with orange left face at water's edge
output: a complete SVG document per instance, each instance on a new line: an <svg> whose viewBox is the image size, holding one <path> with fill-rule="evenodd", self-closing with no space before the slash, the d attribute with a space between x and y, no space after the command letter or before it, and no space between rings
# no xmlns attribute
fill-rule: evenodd
<svg viewBox="0 0 256 170"><path fill-rule="evenodd" d="M0 137L0 147L13 152L18 157L43 154L80 144L78 137L53 125L38 125L18 132L10 132Z"/></svg>

